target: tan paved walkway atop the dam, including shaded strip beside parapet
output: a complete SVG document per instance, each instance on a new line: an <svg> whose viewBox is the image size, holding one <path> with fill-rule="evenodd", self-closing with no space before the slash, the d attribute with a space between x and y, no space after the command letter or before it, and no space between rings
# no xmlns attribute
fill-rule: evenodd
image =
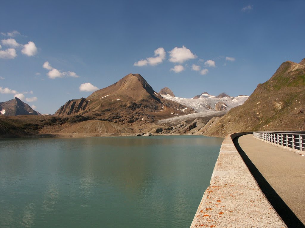
<svg viewBox="0 0 305 228"><path fill-rule="evenodd" d="M278 213L281 217L287 217L282 217L286 225L288 227L305 227L302 225L302 223L305 225L305 156L257 140L253 134L239 137L238 144L240 146L238 149L244 151L245 157L248 157L253 163L252 166L257 168L256 170L254 166L252 167L256 172L253 176L256 175L260 179L257 182L267 199L272 205L275 204L273 205L274 209L279 210ZM249 162L251 163L251 161ZM247 163L247 161L245 162ZM251 171L251 167L249 169ZM264 179L271 185L271 188L268 187L268 183ZM287 207L285 204L300 221L290 221L294 215L291 211L290 214L285 211L285 207ZM289 225L289 223L291 224Z"/></svg>

